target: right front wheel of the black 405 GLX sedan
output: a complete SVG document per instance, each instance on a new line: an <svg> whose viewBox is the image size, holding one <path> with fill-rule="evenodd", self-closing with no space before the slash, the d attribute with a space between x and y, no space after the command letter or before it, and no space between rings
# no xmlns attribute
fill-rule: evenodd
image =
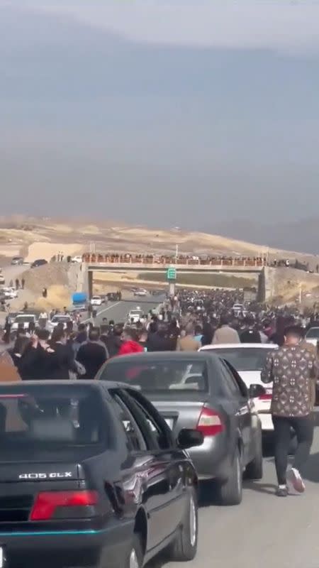
<svg viewBox="0 0 319 568"><path fill-rule="evenodd" d="M193 560L197 552L198 541L198 504L194 488L189 491L184 519L176 539L167 549L167 557L171 562L188 562Z"/></svg>

